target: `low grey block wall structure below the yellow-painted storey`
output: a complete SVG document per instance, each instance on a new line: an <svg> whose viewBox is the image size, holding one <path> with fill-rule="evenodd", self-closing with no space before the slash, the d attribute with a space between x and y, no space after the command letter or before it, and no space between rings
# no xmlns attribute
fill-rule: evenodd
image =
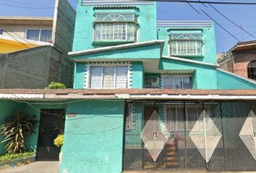
<svg viewBox="0 0 256 173"><path fill-rule="evenodd" d="M0 88L40 89L51 81L72 84L72 65L53 47L0 55Z"/></svg>

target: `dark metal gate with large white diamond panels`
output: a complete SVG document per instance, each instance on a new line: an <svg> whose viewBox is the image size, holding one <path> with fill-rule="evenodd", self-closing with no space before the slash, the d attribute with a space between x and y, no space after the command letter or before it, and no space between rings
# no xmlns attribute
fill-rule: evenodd
<svg viewBox="0 0 256 173"><path fill-rule="evenodd" d="M128 107L124 169L256 170L256 102L135 102ZM153 133L145 127L154 110L155 122L168 131L155 161L150 150L159 150L153 138L159 143L162 128L153 123Z"/></svg>

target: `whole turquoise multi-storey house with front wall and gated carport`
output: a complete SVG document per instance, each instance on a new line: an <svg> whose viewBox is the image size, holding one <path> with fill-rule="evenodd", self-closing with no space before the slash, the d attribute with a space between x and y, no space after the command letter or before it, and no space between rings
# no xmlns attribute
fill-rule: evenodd
<svg viewBox="0 0 256 173"><path fill-rule="evenodd" d="M73 89L0 90L1 121L40 119L37 160L58 159L66 112L61 172L256 170L256 82L218 68L212 22L157 21L156 7L79 0Z"/></svg>

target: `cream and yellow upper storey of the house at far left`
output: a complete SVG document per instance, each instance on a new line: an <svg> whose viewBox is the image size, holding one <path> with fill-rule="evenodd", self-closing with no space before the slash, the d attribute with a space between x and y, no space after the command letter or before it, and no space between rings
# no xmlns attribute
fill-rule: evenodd
<svg viewBox="0 0 256 173"><path fill-rule="evenodd" d="M50 45L53 24L53 18L0 17L0 53Z"/></svg>

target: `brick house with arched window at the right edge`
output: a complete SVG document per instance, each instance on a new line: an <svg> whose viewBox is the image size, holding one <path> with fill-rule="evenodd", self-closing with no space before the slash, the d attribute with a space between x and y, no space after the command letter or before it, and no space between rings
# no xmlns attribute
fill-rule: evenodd
<svg viewBox="0 0 256 173"><path fill-rule="evenodd" d="M256 80L256 40L237 43L218 63L226 71Z"/></svg>

